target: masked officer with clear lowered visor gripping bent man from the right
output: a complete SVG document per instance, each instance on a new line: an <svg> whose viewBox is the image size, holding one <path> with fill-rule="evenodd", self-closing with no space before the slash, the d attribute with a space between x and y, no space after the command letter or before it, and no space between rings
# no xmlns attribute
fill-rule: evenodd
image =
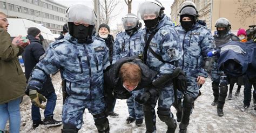
<svg viewBox="0 0 256 133"><path fill-rule="evenodd" d="M142 34L142 38L144 38L142 47L144 63L150 69L159 72L157 77L165 73L172 74L176 69L176 62L181 59L183 50L177 31L164 14L163 5L159 1L144 2L139 5L138 17L143 19L145 23ZM139 100L144 102L146 132L156 132L154 108L157 100L159 119L167 125L167 132L175 132L177 124L170 110L174 101L172 82L168 82L159 88L158 93L151 91L151 88L146 89Z"/></svg>

